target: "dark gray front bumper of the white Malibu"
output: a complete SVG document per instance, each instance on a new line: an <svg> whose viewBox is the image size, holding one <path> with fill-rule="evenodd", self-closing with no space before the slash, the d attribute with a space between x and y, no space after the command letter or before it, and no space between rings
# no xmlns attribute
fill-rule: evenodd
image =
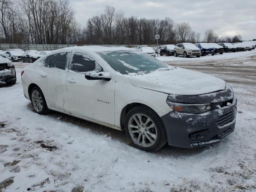
<svg viewBox="0 0 256 192"><path fill-rule="evenodd" d="M213 109L203 114L185 114L171 111L161 117L166 128L168 144L171 146L194 148L220 142L234 131L237 100L229 92L223 102L220 99L212 103ZM197 101L199 97L194 97ZM222 102L221 101L222 98ZM190 98L191 99L191 98ZM208 102L208 101L206 101Z"/></svg>

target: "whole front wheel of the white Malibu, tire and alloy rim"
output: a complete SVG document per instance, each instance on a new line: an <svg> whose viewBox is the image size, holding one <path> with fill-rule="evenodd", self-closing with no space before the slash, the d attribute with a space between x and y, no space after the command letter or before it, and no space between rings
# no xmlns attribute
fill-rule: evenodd
<svg viewBox="0 0 256 192"><path fill-rule="evenodd" d="M161 118L147 106L131 109L125 118L124 128L132 144L144 151L156 151L167 142Z"/></svg>

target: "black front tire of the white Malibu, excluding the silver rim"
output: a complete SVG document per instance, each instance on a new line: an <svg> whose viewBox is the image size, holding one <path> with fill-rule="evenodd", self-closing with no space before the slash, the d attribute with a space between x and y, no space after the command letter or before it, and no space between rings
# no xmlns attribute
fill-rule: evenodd
<svg viewBox="0 0 256 192"><path fill-rule="evenodd" d="M130 136L130 133L128 130L128 122L134 114L138 114L138 113L148 116L154 122L154 124L156 126L156 130L157 130L156 142L150 147L142 147L142 146L136 144ZM127 113L127 115L125 117L125 121L124 121L124 130L126 132L127 137L129 138L130 142L133 144L133 146L140 150L157 151L160 148L162 148L167 142L167 134L166 134L166 130L164 127L164 123L162 122L162 120L158 116L158 114L156 114L156 112L154 110L152 110L151 108L149 108L147 106L136 106L136 107L132 108Z"/></svg>

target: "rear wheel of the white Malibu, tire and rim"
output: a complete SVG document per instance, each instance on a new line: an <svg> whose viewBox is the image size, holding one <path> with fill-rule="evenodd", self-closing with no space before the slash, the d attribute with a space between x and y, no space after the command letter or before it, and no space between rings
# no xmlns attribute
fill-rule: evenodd
<svg viewBox="0 0 256 192"><path fill-rule="evenodd" d="M47 114L49 109L47 107L44 94L39 87L35 86L30 92L30 100L34 110L41 115Z"/></svg>

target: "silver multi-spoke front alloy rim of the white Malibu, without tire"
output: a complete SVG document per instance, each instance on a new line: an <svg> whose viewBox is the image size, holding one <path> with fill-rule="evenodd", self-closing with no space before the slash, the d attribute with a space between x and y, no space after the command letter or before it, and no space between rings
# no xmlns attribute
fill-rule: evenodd
<svg viewBox="0 0 256 192"><path fill-rule="evenodd" d="M157 139L157 129L154 122L146 115L138 113L131 116L128 130L132 140L142 146L150 147Z"/></svg>

